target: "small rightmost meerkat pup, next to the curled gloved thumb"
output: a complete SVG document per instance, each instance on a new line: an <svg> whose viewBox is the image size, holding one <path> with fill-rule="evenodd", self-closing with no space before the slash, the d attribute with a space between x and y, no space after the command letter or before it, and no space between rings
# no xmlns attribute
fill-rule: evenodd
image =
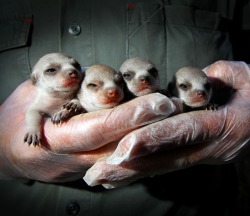
<svg viewBox="0 0 250 216"><path fill-rule="evenodd" d="M185 104L185 110L217 109L211 104L212 87L207 75L196 67L179 69L168 84L171 96L180 98Z"/></svg>

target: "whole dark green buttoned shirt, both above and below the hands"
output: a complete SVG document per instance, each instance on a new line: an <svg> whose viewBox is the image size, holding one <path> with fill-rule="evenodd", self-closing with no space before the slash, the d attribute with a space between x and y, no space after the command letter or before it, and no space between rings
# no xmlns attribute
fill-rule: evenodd
<svg viewBox="0 0 250 216"><path fill-rule="evenodd" d="M204 68L233 59L234 51L240 55L233 30L249 29L242 22L249 4L236 0L0 0L0 5L1 102L46 53L63 52L84 66L102 63L117 70L127 58L146 57L166 87L180 67ZM90 188L82 180L1 181L0 211L26 216L233 215L234 172L231 165L197 166L115 190Z"/></svg>

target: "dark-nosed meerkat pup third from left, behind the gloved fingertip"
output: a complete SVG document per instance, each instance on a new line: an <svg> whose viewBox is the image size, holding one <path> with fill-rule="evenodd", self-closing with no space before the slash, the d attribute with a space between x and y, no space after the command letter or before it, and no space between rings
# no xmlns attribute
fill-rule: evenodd
<svg viewBox="0 0 250 216"><path fill-rule="evenodd" d="M119 71L126 83L129 98L159 91L159 74L148 59L135 57L127 59Z"/></svg>

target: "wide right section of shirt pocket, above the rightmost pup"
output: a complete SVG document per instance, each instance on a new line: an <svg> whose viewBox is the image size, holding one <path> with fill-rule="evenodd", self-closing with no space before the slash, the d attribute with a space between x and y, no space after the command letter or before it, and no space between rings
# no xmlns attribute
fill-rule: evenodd
<svg viewBox="0 0 250 216"><path fill-rule="evenodd" d="M232 59L230 20L217 12L181 5L165 6L168 80L183 66L200 68Z"/></svg>

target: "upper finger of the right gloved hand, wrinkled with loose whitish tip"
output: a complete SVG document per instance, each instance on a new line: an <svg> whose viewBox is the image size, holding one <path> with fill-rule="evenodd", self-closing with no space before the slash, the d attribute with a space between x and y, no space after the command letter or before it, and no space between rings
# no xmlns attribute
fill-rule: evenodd
<svg viewBox="0 0 250 216"><path fill-rule="evenodd" d="M150 124L125 136L107 162L120 164L158 151L212 140L224 130L226 117L226 109L198 111Z"/></svg>

